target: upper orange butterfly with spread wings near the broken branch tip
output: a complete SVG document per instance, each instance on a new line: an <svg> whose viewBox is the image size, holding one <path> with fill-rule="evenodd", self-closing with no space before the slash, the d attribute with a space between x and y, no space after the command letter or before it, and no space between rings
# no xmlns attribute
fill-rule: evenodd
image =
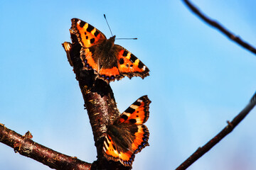
<svg viewBox="0 0 256 170"><path fill-rule="evenodd" d="M114 44L115 35L110 39L78 18L71 19L70 33L75 33L82 46L80 58L82 69L93 69L97 78L107 83L129 77L149 76L149 69L135 55L120 45Z"/></svg>

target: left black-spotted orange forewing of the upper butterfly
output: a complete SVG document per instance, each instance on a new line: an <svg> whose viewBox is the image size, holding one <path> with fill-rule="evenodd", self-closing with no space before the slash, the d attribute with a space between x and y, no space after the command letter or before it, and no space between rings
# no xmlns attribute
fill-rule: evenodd
<svg viewBox="0 0 256 170"><path fill-rule="evenodd" d="M71 30L77 35L82 47L92 47L92 45L97 45L106 40L106 36L89 23L78 18L72 18L71 22Z"/></svg>

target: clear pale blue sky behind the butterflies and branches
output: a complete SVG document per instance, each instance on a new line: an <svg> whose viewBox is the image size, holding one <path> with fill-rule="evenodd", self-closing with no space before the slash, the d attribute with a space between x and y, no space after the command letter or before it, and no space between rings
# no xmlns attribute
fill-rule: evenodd
<svg viewBox="0 0 256 170"><path fill-rule="evenodd" d="M193 1L208 16L256 46L252 0ZM134 169L175 169L232 120L256 90L256 56L230 42L181 1L0 2L0 123L86 162L96 159L82 94L61 45L80 18L116 40L151 70L112 82L122 113L151 99L149 145ZM188 169L255 169L256 111ZM1 169L49 169L0 144Z"/></svg>

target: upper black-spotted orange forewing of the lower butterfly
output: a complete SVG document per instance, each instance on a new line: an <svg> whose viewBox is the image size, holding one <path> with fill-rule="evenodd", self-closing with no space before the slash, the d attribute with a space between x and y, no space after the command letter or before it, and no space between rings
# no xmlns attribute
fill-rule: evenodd
<svg viewBox="0 0 256 170"><path fill-rule="evenodd" d="M119 123L142 125L149 118L149 103L147 96L140 97L119 116Z"/></svg>

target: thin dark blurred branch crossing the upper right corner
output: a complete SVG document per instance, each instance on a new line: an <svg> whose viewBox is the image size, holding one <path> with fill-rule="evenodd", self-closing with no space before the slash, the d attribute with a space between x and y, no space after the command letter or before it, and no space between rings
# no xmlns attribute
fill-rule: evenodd
<svg viewBox="0 0 256 170"><path fill-rule="evenodd" d="M201 13L201 11L198 8L196 8L196 6L191 4L190 1L183 0L183 2L188 6L188 8L191 9L191 11L193 11L193 13L196 13L196 15L199 16L203 21L208 23L210 26L213 26L214 28L217 28L218 30L220 30L220 32L222 32L228 38L230 38L230 40L233 40L233 41L237 42L239 45L241 45L242 47L244 47L245 49L249 50L250 52L252 52L256 55L255 47L252 47L252 45L250 45L249 43L245 42L244 40L242 40L238 36L234 35L233 33L230 33L229 30L227 30L226 28L221 26L218 22L213 21L212 19L205 16L203 13Z"/></svg>

